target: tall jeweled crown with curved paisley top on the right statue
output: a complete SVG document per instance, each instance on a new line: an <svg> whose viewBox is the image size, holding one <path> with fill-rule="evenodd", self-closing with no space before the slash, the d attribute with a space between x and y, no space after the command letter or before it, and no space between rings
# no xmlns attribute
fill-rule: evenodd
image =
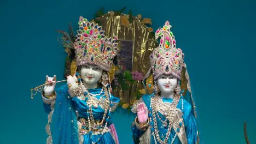
<svg viewBox="0 0 256 144"><path fill-rule="evenodd" d="M181 79L184 53L181 49L176 48L176 41L170 30L171 27L170 22L166 21L164 27L159 28L155 33L155 38L161 37L161 39L159 46L150 55L154 80L161 74L172 74Z"/></svg>

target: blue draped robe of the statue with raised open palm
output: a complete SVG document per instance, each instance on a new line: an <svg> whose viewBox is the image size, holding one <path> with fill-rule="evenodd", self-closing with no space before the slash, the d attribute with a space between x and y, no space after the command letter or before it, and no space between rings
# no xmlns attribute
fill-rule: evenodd
<svg viewBox="0 0 256 144"><path fill-rule="evenodd" d="M145 95L143 95L143 97L141 99L144 102L144 104L146 104L146 106L149 110L150 95L145 94ZM169 103L172 102L172 99L168 99L168 98L162 98L162 99L163 99L164 103L165 102L169 102ZM194 115L192 114L191 105L184 99L183 99L183 107L184 107L184 116L183 116L184 120L183 121L184 121L184 126L185 126L185 135L186 135L185 138L187 138L188 144L195 144L196 141L197 141L196 119L195 119ZM177 109L182 110L182 100L179 100L179 103L177 105ZM165 116L162 115L160 112L158 112L158 114L161 117L162 121L165 121ZM156 117L156 121L158 123L159 136L160 136L160 138L165 139L168 127L165 128L162 125L162 123L161 123L161 121L158 117ZM167 123L169 124L168 121L167 121ZM148 128L150 128L150 125L149 125ZM133 141L136 144L139 143L139 137L141 137L144 133L145 133L145 131L137 129L136 125L132 125ZM155 143L155 141L154 141L154 137L152 135L152 131L151 131L150 134L151 134L150 142L153 144L153 143ZM174 137L175 134L176 134L176 132L172 128L171 135L170 135L167 143L171 143L172 138ZM182 142L181 142L181 140L179 140L179 137L176 136L176 139L174 140L173 144L181 144L181 143ZM182 143L182 144L184 144L184 143Z"/></svg>

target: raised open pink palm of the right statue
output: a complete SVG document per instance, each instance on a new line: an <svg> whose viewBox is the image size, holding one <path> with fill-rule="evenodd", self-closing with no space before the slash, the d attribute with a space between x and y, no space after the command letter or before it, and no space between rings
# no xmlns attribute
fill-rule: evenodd
<svg viewBox="0 0 256 144"><path fill-rule="evenodd" d="M137 107L137 116L139 124L146 124L148 121L148 109L143 103L139 103Z"/></svg>

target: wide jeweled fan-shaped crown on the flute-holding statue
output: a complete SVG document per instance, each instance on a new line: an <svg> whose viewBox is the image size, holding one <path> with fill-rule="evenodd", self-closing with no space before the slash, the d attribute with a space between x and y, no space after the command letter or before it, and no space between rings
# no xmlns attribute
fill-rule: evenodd
<svg viewBox="0 0 256 144"><path fill-rule="evenodd" d="M75 59L77 65L95 64L109 71L117 55L117 37L106 38L102 27L79 17L79 31L75 37Z"/></svg>

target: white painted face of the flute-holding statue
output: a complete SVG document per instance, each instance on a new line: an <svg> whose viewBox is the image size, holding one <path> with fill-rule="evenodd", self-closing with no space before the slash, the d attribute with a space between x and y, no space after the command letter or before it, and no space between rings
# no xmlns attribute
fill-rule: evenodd
<svg viewBox="0 0 256 144"><path fill-rule="evenodd" d="M85 64L81 68L81 76L87 85L95 85L101 79L103 69L97 65Z"/></svg>

